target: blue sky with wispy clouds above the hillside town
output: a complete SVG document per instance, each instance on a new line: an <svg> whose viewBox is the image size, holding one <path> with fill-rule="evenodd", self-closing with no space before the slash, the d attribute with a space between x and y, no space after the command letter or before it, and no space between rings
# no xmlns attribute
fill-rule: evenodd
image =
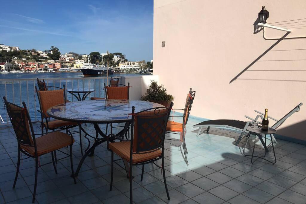
<svg viewBox="0 0 306 204"><path fill-rule="evenodd" d="M0 0L0 44L153 58L153 0Z"/></svg>

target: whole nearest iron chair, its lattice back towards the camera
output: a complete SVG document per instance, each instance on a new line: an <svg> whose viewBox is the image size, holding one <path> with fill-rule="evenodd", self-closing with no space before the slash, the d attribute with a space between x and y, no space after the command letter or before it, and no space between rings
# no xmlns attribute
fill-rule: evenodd
<svg viewBox="0 0 306 204"><path fill-rule="evenodd" d="M132 107L132 122L131 122L131 140L125 140L116 135L109 135L107 137L107 149L111 151L111 178L110 178L110 191L113 185L114 176L114 162L124 160L129 162L129 175L130 180L130 202L133 203L133 186L132 186L132 167L135 165L142 165L141 180L144 176L144 165L154 163L162 159L162 168L164 184L168 200L170 200L164 165L164 142L166 134L167 121L169 119L170 109L165 107L151 108L138 113L135 113L135 107ZM120 142L109 143L109 137L114 136L120 139ZM114 160L114 153L121 159ZM118 164L120 166L120 164Z"/></svg>

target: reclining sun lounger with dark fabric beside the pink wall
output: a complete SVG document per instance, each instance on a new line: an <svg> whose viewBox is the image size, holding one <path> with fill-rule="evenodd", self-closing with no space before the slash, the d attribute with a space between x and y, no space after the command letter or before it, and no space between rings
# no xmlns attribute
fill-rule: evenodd
<svg viewBox="0 0 306 204"><path fill-rule="evenodd" d="M274 128L274 129L278 128L293 113L300 111L300 106L302 106L302 105L303 105L303 103L300 103L299 105L297 105L294 109L292 109L289 113L287 113L280 120L277 120L277 119L275 119L273 117L268 116L268 118L270 118L271 120L276 121L276 123L273 124L271 126L271 128ZM249 132L246 131L246 129L247 129L248 126L252 125L251 124L252 121L256 121L257 123L261 124L261 122L258 121L258 119L260 118L262 120L263 116L264 116L264 113L261 113L261 112L259 112L257 110L255 110L255 112L259 113L259 115L257 115L255 119L253 119L251 117L248 117L248 116L245 116L246 118L248 118L250 120L250 121L246 121L246 122L245 121L237 121L237 120L210 120L210 121L203 121L203 122L201 122L199 124L194 125L193 127L194 128L199 128L197 130L198 133L197 133L196 136L199 136L200 134L204 133L205 131L208 132L210 127L231 128L231 129L234 129L234 130L241 131L241 135L239 136L239 138L237 139L236 144L235 144L235 145L238 145L240 140L242 138L244 138L246 135L249 134ZM203 130L203 128L206 128L206 129ZM274 138L274 135L271 135L271 139L273 141L276 141L275 138Z"/></svg>

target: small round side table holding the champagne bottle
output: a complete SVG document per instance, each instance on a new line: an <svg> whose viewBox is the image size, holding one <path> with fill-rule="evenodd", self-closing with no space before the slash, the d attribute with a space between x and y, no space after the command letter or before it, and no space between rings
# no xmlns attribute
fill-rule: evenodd
<svg viewBox="0 0 306 204"><path fill-rule="evenodd" d="M250 126L247 128L247 131L250 132L249 135L248 135L248 138L251 136L251 135L256 135L255 137L255 141L254 141L254 146L253 146L253 152L252 152L252 155L246 155L244 154L244 156L252 156L252 159L251 159L251 163L253 164L253 157L257 157L258 158L261 158L263 160L266 160L266 161L269 161L267 160L266 158L263 158L266 156L267 152L269 151L268 150L268 147L267 147L267 139L266 139L266 135L272 135L272 134L275 134L277 131L273 128L269 128L267 131L262 131L261 130L261 127L256 127L256 128L251 128ZM263 136L265 137L265 140L263 141ZM255 144L256 144L256 139L257 137L259 137L260 139L260 142L263 144L263 147L265 149L265 155L262 157L262 156L254 156L254 150L255 150ZM274 162L273 161L269 161L270 163L272 164L275 164L276 163L276 156L275 156L275 151L274 151L274 145L273 145L273 140L271 140L271 143L272 143L272 148L273 148L273 153L274 153ZM256 160L257 160L256 159ZM255 161L256 161L255 160Z"/></svg>

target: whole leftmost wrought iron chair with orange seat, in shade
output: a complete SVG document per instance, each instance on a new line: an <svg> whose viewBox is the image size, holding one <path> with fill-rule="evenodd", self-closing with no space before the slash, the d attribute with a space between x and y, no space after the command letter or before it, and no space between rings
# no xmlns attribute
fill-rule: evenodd
<svg viewBox="0 0 306 204"><path fill-rule="evenodd" d="M73 159L72 159L72 145L74 143L74 139L72 135L67 135L63 132L56 131L50 132L46 135L35 134L32 121L27 109L25 102L22 102L23 108L17 106L13 103L10 103L6 100L6 97L3 97L6 111L9 115L9 119L12 123L14 132L16 134L17 142L18 142L18 161L17 161L17 170L16 176L13 183L13 188L16 186L18 174L19 174L19 167L20 167L20 160L24 160L27 158L34 158L35 159L35 181L34 181L34 191L32 197L32 203L35 202L35 195L36 195L36 187L37 187L37 173L38 167L41 167L46 164L53 163L54 171L57 174L57 169L55 166L54 161L54 152L56 150L66 154L65 152L59 150L63 147L69 146L70 147L70 154L66 154L67 157L70 157L70 164L71 164L71 172L73 176L74 183L76 184L76 179L74 176L73 171ZM35 137L35 135L41 135L40 137ZM51 153L52 161L43 165L40 165L39 157L44 154ZM22 154L28 156L27 158L22 158ZM61 158L61 159L64 159ZM60 160L60 159L59 159Z"/></svg>

